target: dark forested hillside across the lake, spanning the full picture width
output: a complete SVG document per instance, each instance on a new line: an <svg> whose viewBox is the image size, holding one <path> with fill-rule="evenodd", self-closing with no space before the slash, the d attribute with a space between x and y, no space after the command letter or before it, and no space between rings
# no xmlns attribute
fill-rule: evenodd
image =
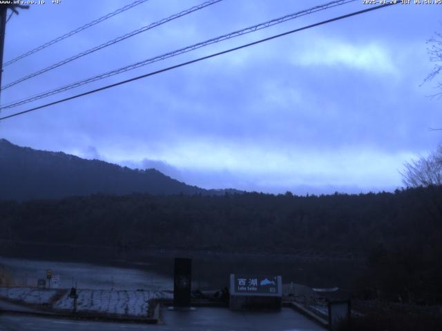
<svg viewBox="0 0 442 331"><path fill-rule="evenodd" d="M0 237L126 252L184 248L366 257L364 286L434 294L442 293L441 208L441 187L320 197L97 194L1 201Z"/></svg>

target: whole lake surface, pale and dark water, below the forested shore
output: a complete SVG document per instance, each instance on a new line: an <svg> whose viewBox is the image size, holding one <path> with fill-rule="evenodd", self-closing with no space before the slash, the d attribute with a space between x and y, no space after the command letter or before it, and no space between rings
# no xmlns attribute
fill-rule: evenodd
<svg viewBox="0 0 442 331"><path fill-rule="evenodd" d="M1 243L1 241L0 241ZM136 253L136 254L135 254ZM172 290L173 259L192 258L192 288L229 286L229 274L273 274L283 283L309 287L351 288L364 268L363 260L297 254L229 254L173 250L137 250L117 254L111 248L74 245L0 245L0 268L18 285L36 285L46 270L59 275L60 287L122 290Z"/></svg>

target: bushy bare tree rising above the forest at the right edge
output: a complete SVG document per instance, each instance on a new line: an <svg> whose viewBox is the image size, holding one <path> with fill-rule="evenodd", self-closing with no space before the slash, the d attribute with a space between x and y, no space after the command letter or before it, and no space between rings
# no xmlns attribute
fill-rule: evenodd
<svg viewBox="0 0 442 331"><path fill-rule="evenodd" d="M442 144L428 157L405 163L402 182L408 188L442 185Z"/></svg>

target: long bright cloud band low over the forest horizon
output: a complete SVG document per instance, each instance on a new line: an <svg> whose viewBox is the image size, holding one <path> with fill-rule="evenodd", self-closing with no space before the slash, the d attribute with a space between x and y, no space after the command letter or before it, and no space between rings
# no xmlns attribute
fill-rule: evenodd
<svg viewBox="0 0 442 331"><path fill-rule="evenodd" d="M124 159L143 159L133 152L115 151ZM285 192L299 188L384 190L401 185L398 170L414 154L394 154L365 148L312 150L300 146L256 146L225 141L186 141L168 150L151 151L141 163L171 177L204 188L238 188ZM162 160L162 161L152 161ZM128 161L112 160L120 164ZM136 162L140 164L140 161ZM135 164L133 163L133 164ZM267 189L266 189L267 188Z"/></svg>

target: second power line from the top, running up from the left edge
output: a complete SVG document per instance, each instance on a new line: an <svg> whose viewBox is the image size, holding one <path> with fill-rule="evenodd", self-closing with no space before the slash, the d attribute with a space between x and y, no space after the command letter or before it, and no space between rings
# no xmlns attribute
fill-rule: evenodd
<svg viewBox="0 0 442 331"><path fill-rule="evenodd" d="M198 6L194 6L192 8L187 9L187 10L183 10L182 12L178 12L177 14L173 14L172 16L167 17L166 19L162 19L162 20L157 21L155 23L151 23L148 26L144 26L144 27L142 27L140 29L137 29L137 30L134 30L134 31L129 32L127 34L124 34L123 36L117 37L117 38L112 39L110 41L106 41L106 43L102 43L99 46L96 46L94 48L90 48L89 50L85 50L84 52L81 52L79 54L74 55L73 57L69 57L68 59L64 59L63 61L59 61L59 62L57 62L55 64L52 64L52 66L48 66L48 67L46 67L44 69L41 69L41 70L39 70L37 72L34 72L32 74L28 74L28 76L25 76L25 77L22 77L20 79L17 79L16 81L13 81L12 83L6 84L6 86L2 86L1 87L1 90L6 90L6 88L10 88L11 86L15 86L18 83L21 83L22 81L27 81L28 79L31 79L32 77L36 77L39 74L43 74L44 72L48 72L49 70L58 68L60 66L64 66L66 63L72 62L72 61L74 61L76 59L79 59L81 57L84 57L84 56L86 56L86 55L88 55L90 53L97 52L97 50L102 50L103 48L106 48L108 46L113 45L114 43L119 43L120 41L123 41L125 39L130 38L130 37L133 37L136 34L140 34L140 33L145 32L147 30L151 30L151 29L153 29L153 28L155 28L157 26L161 26L164 23L167 23L169 21L173 21L174 19L178 19L178 18L183 17L183 16L185 16L187 14L191 14L192 12L195 12L197 10L201 10L203 8L211 6L211 5L213 5L215 3L218 3L220 1L222 1L222 0L209 0L209 1L206 1L204 3L201 3Z"/></svg>

